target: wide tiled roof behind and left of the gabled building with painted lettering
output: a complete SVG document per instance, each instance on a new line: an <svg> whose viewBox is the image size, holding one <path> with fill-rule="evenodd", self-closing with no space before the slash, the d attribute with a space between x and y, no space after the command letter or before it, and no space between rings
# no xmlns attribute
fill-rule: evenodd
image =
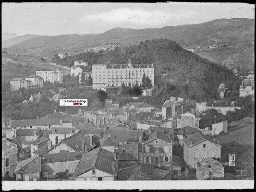
<svg viewBox="0 0 256 192"><path fill-rule="evenodd" d="M143 135L143 131L133 130L106 130L105 135L109 135L111 140L117 145L119 142L139 143L139 137Z"/></svg>

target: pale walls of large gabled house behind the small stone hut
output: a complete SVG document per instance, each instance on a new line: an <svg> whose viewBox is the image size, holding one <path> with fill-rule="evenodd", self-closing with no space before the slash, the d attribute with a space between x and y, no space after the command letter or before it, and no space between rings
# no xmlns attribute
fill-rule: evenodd
<svg viewBox="0 0 256 192"><path fill-rule="evenodd" d="M206 144L206 148L203 148L203 144ZM184 144L186 146L186 144ZM184 147L184 151L187 152L187 149L185 150L186 147ZM195 158L194 152L198 151L198 158ZM211 151L215 151L215 155L211 156ZM204 154L204 157L203 157ZM220 158L221 154L221 147L218 144L209 142L209 141L204 141L199 144L196 144L195 146L192 146L189 148L189 159L187 158L187 155L185 154L184 156L184 161L187 163L188 166L192 168L196 168L196 163L198 161L202 161L203 158L207 157L215 157L215 158ZM186 158L185 158L186 157Z"/></svg>

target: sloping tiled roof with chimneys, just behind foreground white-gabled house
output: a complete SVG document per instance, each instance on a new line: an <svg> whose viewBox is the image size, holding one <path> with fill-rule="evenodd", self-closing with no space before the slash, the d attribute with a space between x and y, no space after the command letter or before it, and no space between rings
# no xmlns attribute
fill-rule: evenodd
<svg viewBox="0 0 256 192"><path fill-rule="evenodd" d="M85 140L85 146L87 147L87 151L90 151L94 148L94 146L90 145L90 137L86 135L82 135L81 131L76 134L63 139L62 142L71 147L74 151L82 151L82 141ZM95 145L95 144L94 144Z"/></svg>

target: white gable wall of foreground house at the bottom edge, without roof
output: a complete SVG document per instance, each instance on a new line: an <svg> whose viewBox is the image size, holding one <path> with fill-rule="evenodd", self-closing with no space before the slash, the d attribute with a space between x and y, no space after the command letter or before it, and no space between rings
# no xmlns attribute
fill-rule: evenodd
<svg viewBox="0 0 256 192"><path fill-rule="evenodd" d="M95 169L95 174L92 170L87 171L76 177L76 180L98 180L98 177L102 177L102 180L114 180L114 175Z"/></svg>

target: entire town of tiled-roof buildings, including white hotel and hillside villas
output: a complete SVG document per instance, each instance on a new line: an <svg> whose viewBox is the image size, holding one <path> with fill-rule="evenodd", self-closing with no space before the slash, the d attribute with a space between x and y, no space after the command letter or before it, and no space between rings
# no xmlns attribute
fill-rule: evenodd
<svg viewBox="0 0 256 192"><path fill-rule="evenodd" d="M67 53L58 54L61 59ZM79 83L92 78L92 89L149 86L142 95L152 96L155 86L154 64L92 65L77 60L70 69ZM145 78L146 74L146 78ZM166 76L165 74L162 75ZM45 82L63 83L61 69L37 71L24 78L10 81L12 91L43 87ZM227 86L218 88L220 100ZM65 98L53 91L51 100ZM111 95L111 94L110 94ZM248 72L239 88L239 96L252 96L254 101L254 71ZM38 102L42 94L31 95L22 103ZM105 106L77 113L50 111L41 119L15 120L2 118L2 176L3 180L221 180L253 177L251 135L254 120L243 119L243 125L221 120L232 106L207 106L195 103L186 108L189 98L171 96L155 108L136 100L122 105L111 97ZM217 114L211 113L218 111ZM139 114L145 116L139 119ZM202 118L202 115L205 117ZM205 120L215 118L215 121ZM217 120L216 120L217 119ZM241 135L241 131L244 132ZM233 137L233 138L232 138ZM242 138L243 137L243 138ZM229 139L228 139L229 138ZM232 138L232 139L230 139ZM246 139L245 139L246 138ZM235 167L229 166L234 154Z"/></svg>

